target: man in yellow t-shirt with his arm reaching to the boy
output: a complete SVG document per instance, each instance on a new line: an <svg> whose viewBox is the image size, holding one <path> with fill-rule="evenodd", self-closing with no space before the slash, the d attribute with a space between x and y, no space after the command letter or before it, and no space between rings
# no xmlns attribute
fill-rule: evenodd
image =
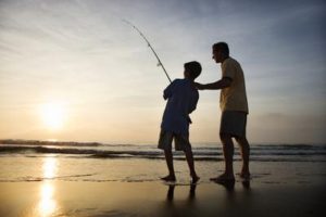
<svg viewBox="0 0 326 217"><path fill-rule="evenodd" d="M212 84L196 84L199 90L222 90L220 98L222 110L220 138L223 144L225 173L215 178L211 178L211 180L220 183L235 181L233 168L233 138L235 138L240 145L242 156L240 177L248 180L250 179L250 146L246 138L248 102L243 72L240 64L229 56L228 44L225 42L213 44L213 59L216 63L221 63L222 78Z"/></svg>

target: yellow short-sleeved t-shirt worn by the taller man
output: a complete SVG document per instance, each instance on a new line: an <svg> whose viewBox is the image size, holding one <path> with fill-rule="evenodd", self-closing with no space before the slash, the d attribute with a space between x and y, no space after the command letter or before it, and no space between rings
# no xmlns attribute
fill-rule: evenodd
<svg viewBox="0 0 326 217"><path fill-rule="evenodd" d="M221 64L221 67L222 77L233 80L230 87L221 90L221 110L249 113L241 65L236 60L228 58Z"/></svg>

